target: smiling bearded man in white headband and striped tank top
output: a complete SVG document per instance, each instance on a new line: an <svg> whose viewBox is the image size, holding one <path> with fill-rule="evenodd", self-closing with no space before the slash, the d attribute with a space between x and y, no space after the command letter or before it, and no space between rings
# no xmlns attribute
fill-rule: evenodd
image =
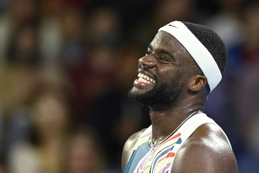
<svg viewBox="0 0 259 173"><path fill-rule="evenodd" d="M152 125L125 143L123 172L238 172L225 133L202 113L226 58L223 41L205 26L174 21L159 29L129 91L150 108Z"/></svg>

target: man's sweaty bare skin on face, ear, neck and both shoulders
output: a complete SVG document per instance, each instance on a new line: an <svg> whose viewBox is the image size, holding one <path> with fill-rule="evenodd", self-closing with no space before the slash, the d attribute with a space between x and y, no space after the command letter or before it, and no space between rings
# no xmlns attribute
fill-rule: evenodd
<svg viewBox="0 0 259 173"><path fill-rule="evenodd" d="M157 33L146 55L139 59L138 72L143 71L141 67L148 68L149 73L159 80L148 86L134 84L132 92L135 95L144 94L155 85L159 86L161 82L167 83L169 88L182 86L177 96L172 92L170 103L147 105L150 108L153 142L156 145L174 131L189 114L197 110L204 111L204 103L210 90L207 78L203 76L191 55L180 42L164 31ZM126 141L122 153L123 172L134 145L144 130L133 134ZM151 146L151 139L148 142ZM171 173L185 172L238 173L235 155L224 133L216 125L207 123L199 126L176 153Z"/></svg>

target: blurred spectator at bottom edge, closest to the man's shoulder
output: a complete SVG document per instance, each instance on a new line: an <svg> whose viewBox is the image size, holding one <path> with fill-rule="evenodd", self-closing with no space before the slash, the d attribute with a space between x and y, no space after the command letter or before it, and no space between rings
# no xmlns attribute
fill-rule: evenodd
<svg viewBox="0 0 259 173"><path fill-rule="evenodd" d="M66 173L102 173L105 154L102 142L91 129L79 130L71 136L66 157Z"/></svg>

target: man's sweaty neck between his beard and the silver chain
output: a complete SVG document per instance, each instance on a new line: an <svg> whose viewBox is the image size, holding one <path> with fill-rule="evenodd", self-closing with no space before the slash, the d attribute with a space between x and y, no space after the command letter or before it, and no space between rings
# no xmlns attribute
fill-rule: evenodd
<svg viewBox="0 0 259 173"><path fill-rule="evenodd" d="M195 100L195 101L194 101ZM204 111L204 102L189 97L166 106L150 108L152 140L155 145L172 133L191 113Z"/></svg>

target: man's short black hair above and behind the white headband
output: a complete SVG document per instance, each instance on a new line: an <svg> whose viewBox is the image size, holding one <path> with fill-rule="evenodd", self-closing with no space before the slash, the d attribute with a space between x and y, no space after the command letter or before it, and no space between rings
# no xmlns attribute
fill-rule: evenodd
<svg viewBox="0 0 259 173"><path fill-rule="evenodd" d="M221 74L223 74L227 61L227 49L220 36L206 26L190 22L182 23L197 37L203 46L207 48L218 64Z"/></svg>

